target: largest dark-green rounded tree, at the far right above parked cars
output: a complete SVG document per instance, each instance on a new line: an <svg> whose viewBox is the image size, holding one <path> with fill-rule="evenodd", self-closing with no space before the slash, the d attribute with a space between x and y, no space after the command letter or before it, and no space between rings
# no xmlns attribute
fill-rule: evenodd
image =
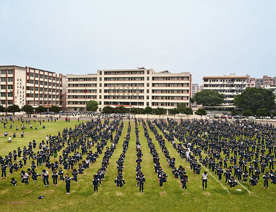
<svg viewBox="0 0 276 212"><path fill-rule="evenodd" d="M259 109L271 109L275 103L272 91L257 87L247 87L240 95L236 95L233 103L243 110L252 110L254 113Z"/></svg>

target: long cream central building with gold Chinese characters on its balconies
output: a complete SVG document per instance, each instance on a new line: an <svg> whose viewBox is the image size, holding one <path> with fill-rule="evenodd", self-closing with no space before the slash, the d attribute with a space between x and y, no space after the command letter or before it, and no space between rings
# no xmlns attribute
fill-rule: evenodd
<svg viewBox="0 0 276 212"><path fill-rule="evenodd" d="M97 74L67 74L66 108L85 110L91 99L104 106L172 109L178 103L190 106L191 75L153 69L98 70ZM86 90L86 93L85 93Z"/></svg>

